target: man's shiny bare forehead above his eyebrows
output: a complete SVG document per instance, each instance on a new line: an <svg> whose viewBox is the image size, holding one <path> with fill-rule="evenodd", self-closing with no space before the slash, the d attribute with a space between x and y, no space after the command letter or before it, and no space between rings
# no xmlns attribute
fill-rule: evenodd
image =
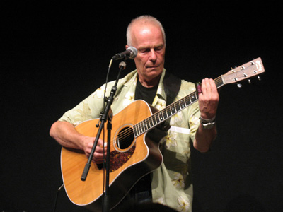
<svg viewBox="0 0 283 212"><path fill-rule="evenodd" d="M163 34L158 25L136 24L132 28L132 44L136 47L163 45Z"/></svg>

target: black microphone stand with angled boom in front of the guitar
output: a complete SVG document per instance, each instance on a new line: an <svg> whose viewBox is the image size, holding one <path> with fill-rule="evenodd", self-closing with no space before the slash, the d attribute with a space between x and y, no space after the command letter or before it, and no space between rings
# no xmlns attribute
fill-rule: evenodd
<svg viewBox="0 0 283 212"><path fill-rule="evenodd" d="M112 130L112 123L111 123L112 114L109 114L109 112L110 112L110 107L112 105L112 102L114 100L115 93L117 91L117 83L118 83L119 78L120 78L120 73L122 72L122 70L124 70L126 68L126 63L125 63L126 60L127 60L127 57L125 57L124 61L121 61L120 64L119 64L120 71L117 75L115 85L112 87L109 98L106 98L106 100L105 100L106 106L105 106L104 112L102 112L102 115L100 116L100 125L99 125L99 128L98 128L96 139L93 143L93 148L91 149L91 153L88 157L88 162L86 163L84 170L83 170L83 174L81 175L81 180L86 181L86 176L88 175L88 170L91 167L91 160L93 158L93 153L96 151L96 146L98 144L98 139L100 137L100 134L101 134L101 131L104 127L105 122L108 121L108 124L107 124L108 142L107 142L107 155L106 155L106 162L105 162L105 166L106 166L105 195L104 195L104 199L103 199L103 211L104 212L109 211L109 197L110 197L109 196L109 173L110 173L110 142L111 142L111 130Z"/></svg>

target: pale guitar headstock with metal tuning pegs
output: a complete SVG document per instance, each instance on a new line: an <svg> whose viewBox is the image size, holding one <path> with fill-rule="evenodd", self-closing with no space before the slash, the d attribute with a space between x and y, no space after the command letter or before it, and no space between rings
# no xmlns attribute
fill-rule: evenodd
<svg viewBox="0 0 283 212"><path fill-rule="evenodd" d="M231 69L224 75L222 75L222 81L224 84L238 83L239 81L246 80L253 76L258 76L265 72L265 68L262 64L260 57L253 59L246 64Z"/></svg>

